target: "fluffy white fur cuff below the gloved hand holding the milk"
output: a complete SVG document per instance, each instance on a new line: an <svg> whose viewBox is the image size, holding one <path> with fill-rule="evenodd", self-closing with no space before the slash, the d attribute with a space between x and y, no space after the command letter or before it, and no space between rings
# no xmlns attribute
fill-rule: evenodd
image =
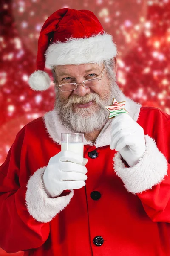
<svg viewBox="0 0 170 256"><path fill-rule="evenodd" d="M74 191L68 195L50 198L43 188L42 175L46 167L38 169L27 184L26 206L29 214L39 222L49 222L70 202Z"/></svg>

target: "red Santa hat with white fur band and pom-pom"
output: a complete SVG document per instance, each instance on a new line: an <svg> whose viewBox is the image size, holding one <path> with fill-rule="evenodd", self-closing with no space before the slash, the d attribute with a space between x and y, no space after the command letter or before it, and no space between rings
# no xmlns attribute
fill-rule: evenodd
<svg viewBox="0 0 170 256"><path fill-rule="evenodd" d="M43 91L51 79L44 68L57 65L101 63L116 56L116 45L97 17L88 10L59 9L42 26L37 71L29 77L33 90Z"/></svg>

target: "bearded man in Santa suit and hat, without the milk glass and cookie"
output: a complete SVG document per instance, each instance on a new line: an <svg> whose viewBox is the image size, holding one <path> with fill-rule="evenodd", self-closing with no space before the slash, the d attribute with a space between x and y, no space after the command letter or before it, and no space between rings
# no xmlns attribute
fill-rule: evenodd
<svg viewBox="0 0 170 256"><path fill-rule="evenodd" d="M122 93L116 54L88 10L60 9L42 26L29 84L48 89L51 68L56 100L21 129L0 169L6 252L170 255L170 116ZM113 98L128 113L108 119ZM85 135L83 157L61 151L61 133L73 132Z"/></svg>

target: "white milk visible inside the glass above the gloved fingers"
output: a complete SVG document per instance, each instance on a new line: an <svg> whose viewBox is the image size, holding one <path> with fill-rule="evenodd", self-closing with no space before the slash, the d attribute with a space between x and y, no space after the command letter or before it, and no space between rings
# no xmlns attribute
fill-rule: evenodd
<svg viewBox="0 0 170 256"><path fill-rule="evenodd" d="M84 144L82 142L80 143L66 143L62 142L61 143L61 151L71 151L77 154L80 154L83 157L83 149L84 149Z"/></svg>

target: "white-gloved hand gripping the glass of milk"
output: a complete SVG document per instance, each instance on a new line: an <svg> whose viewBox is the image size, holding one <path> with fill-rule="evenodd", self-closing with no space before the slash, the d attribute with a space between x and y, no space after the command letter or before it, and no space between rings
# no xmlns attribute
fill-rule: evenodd
<svg viewBox="0 0 170 256"><path fill-rule="evenodd" d="M63 190L80 189L85 186L87 162L86 158L71 151L62 151L51 157L43 175L48 195L54 198Z"/></svg>

